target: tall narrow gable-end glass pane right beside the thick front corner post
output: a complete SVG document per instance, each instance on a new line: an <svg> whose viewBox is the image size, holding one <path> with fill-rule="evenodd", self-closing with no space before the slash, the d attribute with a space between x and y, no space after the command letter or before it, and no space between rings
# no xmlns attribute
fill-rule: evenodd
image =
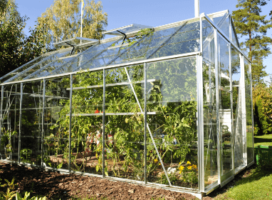
<svg viewBox="0 0 272 200"><path fill-rule="evenodd" d="M206 27L204 27L206 29ZM203 113L204 113L204 182L205 187L218 180L214 31L204 41Z"/></svg>

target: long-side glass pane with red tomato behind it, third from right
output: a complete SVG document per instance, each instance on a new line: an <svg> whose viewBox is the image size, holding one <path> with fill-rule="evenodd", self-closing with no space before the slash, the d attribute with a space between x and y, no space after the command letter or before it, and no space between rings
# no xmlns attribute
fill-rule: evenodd
<svg viewBox="0 0 272 200"><path fill-rule="evenodd" d="M73 76L70 169L102 175L103 71Z"/></svg>

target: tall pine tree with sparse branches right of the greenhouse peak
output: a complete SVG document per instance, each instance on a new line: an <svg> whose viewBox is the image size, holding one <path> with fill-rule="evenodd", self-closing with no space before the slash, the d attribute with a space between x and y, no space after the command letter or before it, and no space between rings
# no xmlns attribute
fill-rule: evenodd
<svg viewBox="0 0 272 200"><path fill-rule="evenodd" d="M249 52L253 84L260 83L268 75L264 71L263 58L271 54L269 45L272 39L266 36L266 32L272 24L266 20L266 15L261 16L261 6L266 4L266 0L238 0L236 7L240 9L232 13L236 33L247 37L241 46L246 46Z"/></svg>

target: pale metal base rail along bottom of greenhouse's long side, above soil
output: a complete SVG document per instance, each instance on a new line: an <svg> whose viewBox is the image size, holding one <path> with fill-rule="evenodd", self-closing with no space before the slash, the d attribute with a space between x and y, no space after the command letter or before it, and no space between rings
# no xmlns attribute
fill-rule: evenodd
<svg viewBox="0 0 272 200"><path fill-rule="evenodd" d="M48 167L48 166L38 166L38 165L31 165L31 164L26 164L26 163L18 163L17 161L9 161L9 160L1 160L2 162L6 163L6 164L18 164L18 165L23 165L23 166L28 166L28 167L33 167L33 168L38 168L38 169L43 169L44 171L59 171L60 174L78 174L78 175L82 175L82 176L93 176L93 177L98 177L98 178L103 178L102 175L100 174L90 174L90 173L86 173L86 172L80 172L80 171L70 171L68 169L56 169L53 167ZM194 196L197 196L197 198L202 199L202 193L200 193L198 191L198 189L189 189L189 188L184 188L184 187L179 187L179 186L168 186L168 185L162 185L162 184L155 184L155 183L150 183L147 182L147 184L145 184L145 181L136 181L136 180L131 180L131 179L122 179L122 178L117 178L117 177L113 177L113 176L105 176L106 180L109 181L122 181L125 183L129 183L129 184L137 184L140 186L149 186L151 188L157 188L157 189L166 189L169 191L177 191L177 192L186 192L187 194L192 194Z"/></svg>

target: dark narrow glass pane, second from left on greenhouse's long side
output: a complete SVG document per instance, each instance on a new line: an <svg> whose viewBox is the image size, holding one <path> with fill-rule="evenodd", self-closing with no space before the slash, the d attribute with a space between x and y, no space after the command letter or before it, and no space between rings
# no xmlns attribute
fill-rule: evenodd
<svg viewBox="0 0 272 200"><path fill-rule="evenodd" d="M42 110L43 81L23 84L20 151L23 163L41 164Z"/></svg>

